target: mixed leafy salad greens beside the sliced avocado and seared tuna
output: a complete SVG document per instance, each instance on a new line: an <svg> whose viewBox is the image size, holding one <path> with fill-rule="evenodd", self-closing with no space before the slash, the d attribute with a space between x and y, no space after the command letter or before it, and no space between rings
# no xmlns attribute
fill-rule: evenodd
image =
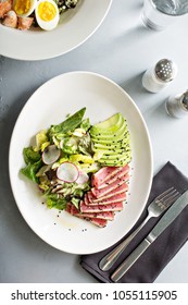
<svg viewBox="0 0 188 305"><path fill-rule="evenodd" d="M100 168L91 149L89 119L83 119L85 111L83 108L61 124L40 131L35 136L35 144L23 149L26 166L21 172L38 184L49 208L64 209L68 202L78 207L85 192L90 190L89 175ZM52 146L60 154L58 159L50 156L51 161L47 162L48 149ZM63 162L72 162L79 172L84 171L82 183L65 182L57 176L57 169Z"/></svg>

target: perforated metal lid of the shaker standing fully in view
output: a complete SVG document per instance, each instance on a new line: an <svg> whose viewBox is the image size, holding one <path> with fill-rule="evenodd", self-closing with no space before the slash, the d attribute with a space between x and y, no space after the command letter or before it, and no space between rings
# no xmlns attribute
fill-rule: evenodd
<svg viewBox="0 0 188 305"><path fill-rule="evenodd" d="M154 73L160 81L167 83L175 78L177 66L172 60L162 59L156 63Z"/></svg>

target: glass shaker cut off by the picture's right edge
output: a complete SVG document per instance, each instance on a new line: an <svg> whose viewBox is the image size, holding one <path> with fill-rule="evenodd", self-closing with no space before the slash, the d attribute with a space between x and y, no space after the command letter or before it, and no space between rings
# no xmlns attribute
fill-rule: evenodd
<svg viewBox="0 0 188 305"><path fill-rule="evenodd" d="M165 107L167 114L171 117L177 119L188 117L188 90L170 97L166 100Z"/></svg>

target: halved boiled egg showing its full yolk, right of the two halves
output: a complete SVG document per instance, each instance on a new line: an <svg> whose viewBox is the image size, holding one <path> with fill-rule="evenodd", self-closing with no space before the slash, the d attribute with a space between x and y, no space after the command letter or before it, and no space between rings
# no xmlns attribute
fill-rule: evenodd
<svg viewBox="0 0 188 305"><path fill-rule="evenodd" d="M51 30L57 27L60 20L59 9L53 0L38 1L35 15L38 25L46 30Z"/></svg>

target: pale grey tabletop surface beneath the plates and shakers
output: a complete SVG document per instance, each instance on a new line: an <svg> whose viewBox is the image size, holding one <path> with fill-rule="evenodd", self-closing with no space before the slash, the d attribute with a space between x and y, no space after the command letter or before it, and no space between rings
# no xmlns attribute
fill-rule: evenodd
<svg viewBox="0 0 188 305"><path fill-rule="evenodd" d="M41 241L22 218L9 181L9 143L16 118L29 96L46 81L68 71L91 71L120 84L139 107L150 132L154 173L171 161L188 175L188 118L167 117L164 100L187 89L188 16L165 32L140 21L141 0L114 0L100 28L67 54L45 61L0 57L0 282L88 282L96 280L79 266L79 257ZM178 76L163 91L147 93L142 73L162 58L173 59ZM188 245L156 282L188 282Z"/></svg>

